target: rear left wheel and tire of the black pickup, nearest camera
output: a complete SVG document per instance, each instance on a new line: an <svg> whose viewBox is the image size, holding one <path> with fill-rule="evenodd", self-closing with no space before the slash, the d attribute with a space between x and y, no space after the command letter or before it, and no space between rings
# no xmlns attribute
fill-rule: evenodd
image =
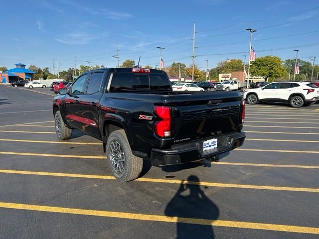
<svg viewBox="0 0 319 239"><path fill-rule="evenodd" d="M128 182L140 176L143 158L132 153L124 129L113 131L106 143L106 157L114 177L121 182Z"/></svg>

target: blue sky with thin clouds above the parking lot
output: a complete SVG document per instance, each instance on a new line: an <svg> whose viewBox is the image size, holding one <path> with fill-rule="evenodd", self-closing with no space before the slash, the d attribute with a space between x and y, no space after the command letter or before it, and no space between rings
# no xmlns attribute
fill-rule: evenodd
<svg viewBox="0 0 319 239"><path fill-rule="evenodd" d="M318 0L15 0L1 3L0 22L0 66L8 68L17 62L52 67L58 57L60 69L67 69L74 66L74 52L77 66L92 61L114 67L116 44L120 63L141 56L141 65L156 66L160 46L165 66L189 65L193 22L195 62L202 69L205 59L213 68L247 55L246 28L258 30L257 57L294 58L294 48L278 49L288 47L298 48L303 60L319 56Z"/></svg>

